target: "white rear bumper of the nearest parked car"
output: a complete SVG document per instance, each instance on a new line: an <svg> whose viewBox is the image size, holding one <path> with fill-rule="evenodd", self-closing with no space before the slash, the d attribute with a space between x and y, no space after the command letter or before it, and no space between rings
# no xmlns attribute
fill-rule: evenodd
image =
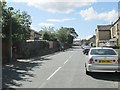
<svg viewBox="0 0 120 90"><path fill-rule="evenodd" d="M90 72L120 72L120 65L87 65Z"/></svg>

